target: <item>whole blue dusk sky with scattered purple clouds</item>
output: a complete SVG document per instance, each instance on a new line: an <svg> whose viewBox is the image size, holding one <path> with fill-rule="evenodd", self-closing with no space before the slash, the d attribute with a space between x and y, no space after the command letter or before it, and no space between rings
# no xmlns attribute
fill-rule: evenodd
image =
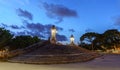
<svg viewBox="0 0 120 70"><path fill-rule="evenodd" d="M75 42L86 32L120 30L120 0L0 0L0 26L15 35L50 36L50 27L58 30L57 39Z"/></svg>

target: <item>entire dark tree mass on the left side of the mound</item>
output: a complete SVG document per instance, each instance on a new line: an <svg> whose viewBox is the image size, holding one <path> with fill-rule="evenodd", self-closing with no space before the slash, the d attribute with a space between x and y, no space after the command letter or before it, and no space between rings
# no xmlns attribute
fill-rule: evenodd
<svg viewBox="0 0 120 70"><path fill-rule="evenodd" d="M6 47L9 48L9 50L25 48L39 41L40 39L37 36L14 36L9 30L0 28L0 50Z"/></svg>

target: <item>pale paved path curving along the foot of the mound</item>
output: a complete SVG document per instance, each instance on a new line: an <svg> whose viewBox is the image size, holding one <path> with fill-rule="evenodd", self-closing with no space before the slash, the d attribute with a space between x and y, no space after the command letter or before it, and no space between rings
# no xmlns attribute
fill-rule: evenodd
<svg viewBox="0 0 120 70"><path fill-rule="evenodd" d="M120 70L120 55L104 55L92 61L71 64L33 65L0 62L0 70Z"/></svg>

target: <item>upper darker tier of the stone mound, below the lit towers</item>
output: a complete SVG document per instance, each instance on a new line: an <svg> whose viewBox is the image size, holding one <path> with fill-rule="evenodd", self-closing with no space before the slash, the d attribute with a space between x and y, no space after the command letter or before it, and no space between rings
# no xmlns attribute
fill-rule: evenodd
<svg viewBox="0 0 120 70"><path fill-rule="evenodd" d="M76 53L91 53L91 51L78 46L53 45L47 44L37 48L35 51L27 53L27 55L60 55L60 54L76 54Z"/></svg>

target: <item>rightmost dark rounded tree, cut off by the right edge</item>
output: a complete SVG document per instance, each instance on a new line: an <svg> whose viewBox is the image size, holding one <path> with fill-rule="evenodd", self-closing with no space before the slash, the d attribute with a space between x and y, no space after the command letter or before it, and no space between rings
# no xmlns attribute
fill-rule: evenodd
<svg viewBox="0 0 120 70"><path fill-rule="evenodd" d="M117 29L107 30L103 33L105 40L104 45L107 48L114 48L118 47L117 45L120 44L120 32Z"/></svg>

